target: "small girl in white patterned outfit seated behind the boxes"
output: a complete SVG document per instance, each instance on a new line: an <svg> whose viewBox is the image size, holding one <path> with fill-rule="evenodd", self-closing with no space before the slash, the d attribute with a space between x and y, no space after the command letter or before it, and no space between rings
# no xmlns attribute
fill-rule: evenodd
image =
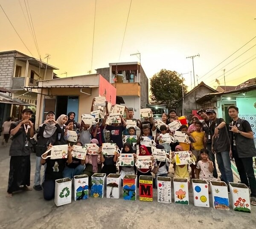
<svg viewBox="0 0 256 229"><path fill-rule="evenodd" d="M209 152L206 149L201 149L200 150L200 155L201 155L201 161L198 161L197 166L196 166L196 177L199 178L200 180L205 180L208 183L210 181L218 181L217 178L213 177L213 163L212 161L209 160ZM210 186L208 185L208 188ZM210 193L210 189L209 189Z"/></svg>

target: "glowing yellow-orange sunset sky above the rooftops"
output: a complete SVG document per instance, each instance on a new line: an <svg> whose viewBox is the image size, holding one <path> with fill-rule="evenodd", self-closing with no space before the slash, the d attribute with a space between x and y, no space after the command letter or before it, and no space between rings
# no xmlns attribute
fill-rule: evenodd
<svg viewBox="0 0 256 229"><path fill-rule="evenodd" d="M0 5L28 48L0 7L0 51L17 50L44 62L50 54L48 63L60 69L55 71L60 77L141 59L148 78L163 68L177 71L190 90L193 67L186 57L198 54L195 85L204 81L216 88L216 79L224 85L224 69L226 85L256 77L255 0L0 0Z"/></svg>

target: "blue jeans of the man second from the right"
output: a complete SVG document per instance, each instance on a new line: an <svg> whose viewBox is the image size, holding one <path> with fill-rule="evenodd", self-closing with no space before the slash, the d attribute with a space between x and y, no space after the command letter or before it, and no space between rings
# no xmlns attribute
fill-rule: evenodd
<svg viewBox="0 0 256 229"><path fill-rule="evenodd" d="M233 182L233 172L231 169L229 151L216 153L218 169L221 172L221 178L229 186L229 182Z"/></svg>

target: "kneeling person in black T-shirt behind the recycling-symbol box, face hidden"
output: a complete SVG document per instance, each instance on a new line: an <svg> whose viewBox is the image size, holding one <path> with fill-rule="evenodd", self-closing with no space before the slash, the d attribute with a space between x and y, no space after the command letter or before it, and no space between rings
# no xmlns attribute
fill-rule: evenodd
<svg viewBox="0 0 256 229"><path fill-rule="evenodd" d="M52 147L52 144L49 144L48 150ZM51 158L41 158L41 164L46 166L45 170L45 180L44 180L44 199L50 201L54 198L55 194L55 180L63 178L63 170L65 167L65 163L72 162L72 153L71 153L71 146L68 146L68 155L67 158L60 158L60 159L51 159ZM47 154L50 155L50 152ZM46 155L46 156L47 156ZM45 156L45 157L46 157Z"/></svg>

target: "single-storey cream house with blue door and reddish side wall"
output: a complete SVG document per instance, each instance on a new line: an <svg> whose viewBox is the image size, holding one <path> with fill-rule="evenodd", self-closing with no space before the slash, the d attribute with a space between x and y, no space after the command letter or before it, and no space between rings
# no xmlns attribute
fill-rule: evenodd
<svg viewBox="0 0 256 229"><path fill-rule="evenodd" d="M75 120L81 122L83 113L90 114L96 96L105 96L109 108L116 104L116 88L100 74L45 79L25 88L38 90L35 127L44 122L49 111L55 112L56 118L72 111L76 113Z"/></svg>

